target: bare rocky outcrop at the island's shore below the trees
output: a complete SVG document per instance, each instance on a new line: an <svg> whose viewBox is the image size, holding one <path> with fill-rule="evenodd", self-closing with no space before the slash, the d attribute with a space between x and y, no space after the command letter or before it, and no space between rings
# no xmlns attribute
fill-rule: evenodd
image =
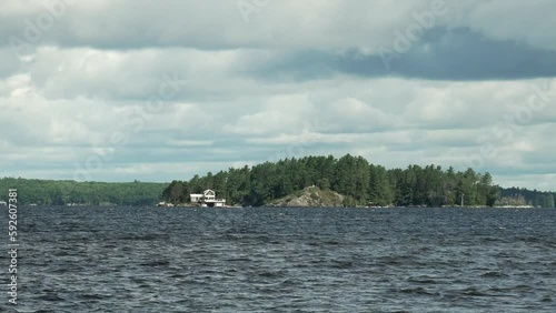
<svg viewBox="0 0 556 313"><path fill-rule="evenodd" d="M307 208L335 208L344 206L344 196L329 190L308 186L288 196L274 200L265 206L307 206Z"/></svg>

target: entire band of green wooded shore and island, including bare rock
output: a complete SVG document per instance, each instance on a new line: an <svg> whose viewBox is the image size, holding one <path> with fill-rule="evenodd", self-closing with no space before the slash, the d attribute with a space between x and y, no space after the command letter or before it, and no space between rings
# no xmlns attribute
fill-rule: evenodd
<svg viewBox="0 0 556 313"><path fill-rule="evenodd" d="M456 172L437 165L387 170L361 156L306 156L230 168L188 181L76 182L0 179L0 190L17 188L21 205L198 206L189 194L215 190L228 208L554 208L554 192L500 188L473 169ZM7 196L7 195L6 195ZM0 194L0 202L4 200Z"/></svg>

